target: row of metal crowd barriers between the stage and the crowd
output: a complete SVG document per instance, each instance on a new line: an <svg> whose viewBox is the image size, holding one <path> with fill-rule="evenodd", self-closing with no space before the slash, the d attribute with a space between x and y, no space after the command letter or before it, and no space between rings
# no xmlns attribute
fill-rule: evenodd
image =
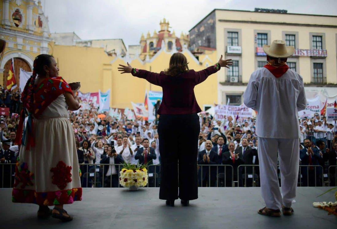
<svg viewBox="0 0 337 229"><path fill-rule="evenodd" d="M16 164L0 164L0 178L1 182L0 188L12 188L14 184L14 171L15 171L15 165ZM106 178L106 169L104 166L109 166L109 165L115 165L116 166L116 177L109 176L109 178ZM113 179L116 184L116 187L121 187L119 185L119 171L122 169L122 164L80 164L80 168L82 171L82 176L80 177L81 179L81 184L82 187L113 187ZM227 182L227 173L231 172L231 187L234 187L234 183L238 182L240 184L240 180L244 179L244 186L247 187L247 179L252 179L252 187L256 187L256 181L258 180L258 175L256 174L255 170L258 171L258 165L240 165L237 168L238 174L237 174L237 181L234 181L234 169L233 166L231 165L197 165L198 166L198 186L202 186L203 181L203 171L205 169L208 169L208 187L210 187L211 184L211 179L214 180L214 177L211 176L211 170L212 168L216 167L216 181L214 184L214 187L219 187L220 181L222 182L224 180L224 187L226 186ZM151 168L154 169L151 169ZM230 171L227 171L227 168L230 168ZM252 167L252 172L247 173L247 167ZM257 168L256 168L257 167ZM309 177L309 170L310 167L313 167L314 170L314 186L317 186L317 178L321 178L322 184L320 186L323 186L323 181L324 181L324 170L323 167L320 165L300 165L299 166L299 181L298 181L298 186L302 187L303 186L303 175L302 174L302 169L303 167L306 167L306 172L307 177L306 177L306 182L307 186L309 186L309 180L312 177ZM219 173L219 168L223 168L223 172ZM242 170L241 170L242 168ZM334 172L330 172L331 169L334 168ZM319 171L320 169L320 171ZM240 171L241 170L241 171ZM150 172L151 171L151 172ZM317 171L320 174L317 174ZM178 170L179 172L179 170ZM147 187L159 187L160 186L160 165L150 165L148 167L148 174L149 174L149 182ZM255 174L257 176L255 176ZM241 177L240 177L241 176ZM6 178L7 177L7 178ZM310 178L310 179L309 179ZM117 179L117 181L116 181ZM328 179L330 181L330 186L337 184L337 165L332 165L329 166L328 168ZM106 183L110 184L106 184ZM200 185L201 184L201 185ZM239 185L238 185L239 186Z"/></svg>

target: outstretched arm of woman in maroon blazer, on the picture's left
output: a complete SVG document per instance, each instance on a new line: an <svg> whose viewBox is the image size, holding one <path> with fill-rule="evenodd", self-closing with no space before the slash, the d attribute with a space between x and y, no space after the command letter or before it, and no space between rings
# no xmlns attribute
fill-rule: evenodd
<svg viewBox="0 0 337 229"><path fill-rule="evenodd" d="M118 68L118 71L121 71L121 74L131 73L133 76L146 79L151 84L161 86L159 73L154 73L154 72L150 72L146 70L132 68L132 66L129 63L127 63L127 66L121 65L121 64L119 66L120 67Z"/></svg>

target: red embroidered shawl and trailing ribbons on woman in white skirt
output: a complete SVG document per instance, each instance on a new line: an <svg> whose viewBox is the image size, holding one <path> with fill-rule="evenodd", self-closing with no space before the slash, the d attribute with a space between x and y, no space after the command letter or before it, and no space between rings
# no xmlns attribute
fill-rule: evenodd
<svg viewBox="0 0 337 229"><path fill-rule="evenodd" d="M27 88L24 89L27 91L34 91L33 94L33 105L30 107L29 99L23 98L24 109L21 111L20 121L17 131L17 137L15 142L18 145L26 145L26 150L30 149L30 146L35 146L34 141L34 128L33 128L33 119L34 116L36 119L40 117L42 112L60 95L65 92L69 92L73 95L69 85L62 77L46 78L39 85L28 84ZM24 92L22 93L24 95ZM27 127L24 127L25 123L25 110L31 110L31 113L28 113ZM26 141L27 138L27 141Z"/></svg>

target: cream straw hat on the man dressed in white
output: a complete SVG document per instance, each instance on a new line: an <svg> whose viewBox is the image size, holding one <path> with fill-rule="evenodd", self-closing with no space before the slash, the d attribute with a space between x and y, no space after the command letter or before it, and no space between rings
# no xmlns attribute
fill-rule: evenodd
<svg viewBox="0 0 337 229"><path fill-rule="evenodd" d="M263 45L263 51L270 57L287 58L294 54L294 46L286 46L283 40L273 40L271 45Z"/></svg>

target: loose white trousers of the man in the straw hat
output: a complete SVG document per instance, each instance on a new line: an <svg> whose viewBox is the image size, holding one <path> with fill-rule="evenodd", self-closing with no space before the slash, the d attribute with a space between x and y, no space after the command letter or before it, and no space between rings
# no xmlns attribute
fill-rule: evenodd
<svg viewBox="0 0 337 229"><path fill-rule="evenodd" d="M300 163L300 141L284 138L258 137L258 160L261 194L267 208L291 207L296 197ZM281 171L281 192L277 176L277 157Z"/></svg>

